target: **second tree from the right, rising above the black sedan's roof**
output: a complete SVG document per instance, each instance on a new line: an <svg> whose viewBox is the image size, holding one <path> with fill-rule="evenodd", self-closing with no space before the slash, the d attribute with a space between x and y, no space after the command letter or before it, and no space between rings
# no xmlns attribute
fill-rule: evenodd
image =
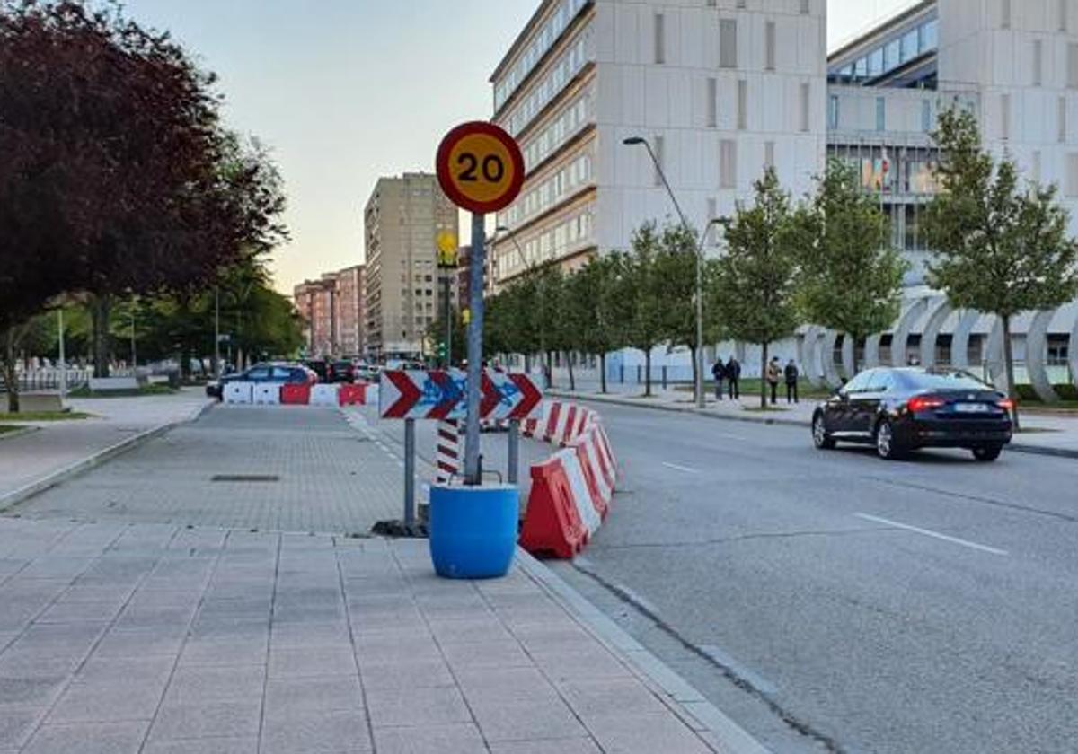
<svg viewBox="0 0 1078 754"><path fill-rule="evenodd" d="M907 265L890 246L890 224L857 173L832 159L810 204L796 213L802 317L857 344L892 325Z"/></svg>

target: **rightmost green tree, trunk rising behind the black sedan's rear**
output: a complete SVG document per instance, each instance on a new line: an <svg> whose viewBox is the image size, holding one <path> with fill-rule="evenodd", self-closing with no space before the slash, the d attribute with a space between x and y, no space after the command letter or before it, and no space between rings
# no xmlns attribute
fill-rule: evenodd
<svg viewBox="0 0 1078 754"><path fill-rule="evenodd" d="M1007 392L1019 428L1010 326L1015 315L1078 295L1078 245L1066 235L1056 187L1020 187L1013 160L998 163L964 110L940 114L940 192L924 214L929 282L956 308L996 315L1004 331Z"/></svg>

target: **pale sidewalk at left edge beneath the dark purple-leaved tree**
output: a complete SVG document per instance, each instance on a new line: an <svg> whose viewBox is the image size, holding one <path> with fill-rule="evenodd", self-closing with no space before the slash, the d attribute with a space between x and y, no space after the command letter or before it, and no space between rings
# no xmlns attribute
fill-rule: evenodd
<svg viewBox="0 0 1078 754"><path fill-rule="evenodd" d="M34 432L0 437L0 499L143 432L194 418L209 402L199 390L174 395L72 399L89 419L30 422ZM9 417L5 424L18 423Z"/></svg>

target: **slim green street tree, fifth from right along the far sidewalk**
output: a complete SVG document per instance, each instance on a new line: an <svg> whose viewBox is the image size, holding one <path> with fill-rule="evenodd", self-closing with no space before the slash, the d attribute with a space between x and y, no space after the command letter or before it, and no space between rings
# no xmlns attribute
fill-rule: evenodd
<svg viewBox="0 0 1078 754"><path fill-rule="evenodd" d="M616 295L625 316L625 344L644 351L644 394L651 395L651 351L668 335L666 281L657 263L662 238L654 222L633 232L632 251L619 257Z"/></svg>

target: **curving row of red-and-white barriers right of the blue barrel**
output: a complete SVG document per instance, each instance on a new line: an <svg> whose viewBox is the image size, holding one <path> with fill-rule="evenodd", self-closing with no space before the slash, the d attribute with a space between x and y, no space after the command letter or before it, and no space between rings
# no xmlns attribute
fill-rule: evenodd
<svg viewBox="0 0 1078 754"><path fill-rule="evenodd" d="M551 401L542 419L521 424L525 436L562 449L531 466L531 492L521 546L571 558L588 544L610 511L618 464L598 414Z"/></svg>

